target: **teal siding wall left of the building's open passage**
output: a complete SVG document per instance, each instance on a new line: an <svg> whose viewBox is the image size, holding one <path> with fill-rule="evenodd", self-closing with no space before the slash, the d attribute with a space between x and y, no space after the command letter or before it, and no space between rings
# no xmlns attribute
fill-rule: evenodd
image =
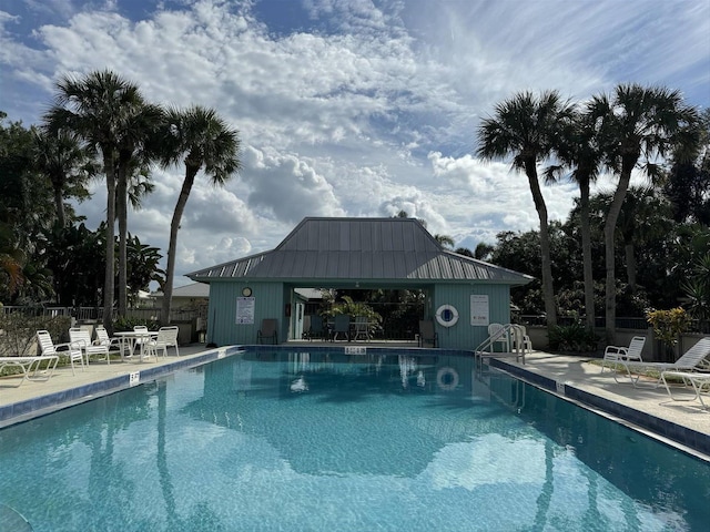
<svg viewBox="0 0 710 532"><path fill-rule="evenodd" d="M236 299L248 286L254 297L254 324L236 324ZM278 320L278 341L286 339L288 318L285 316L283 283L211 283L207 317L207 341L217 346L256 344L256 331L262 319Z"/></svg>

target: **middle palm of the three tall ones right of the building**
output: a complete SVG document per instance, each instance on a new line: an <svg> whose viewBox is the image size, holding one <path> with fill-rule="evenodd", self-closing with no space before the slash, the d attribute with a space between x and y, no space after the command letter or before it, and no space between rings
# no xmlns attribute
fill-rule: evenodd
<svg viewBox="0 0 710 532"><path fill-rule="evenodd" d="M591 227L589 222L589 191L601 167L595 117L589 110L576 112L564 134L559 136L555 152L560 164L548 166L546 181L556 181L567 168L570 178L579 186L579 218L581 233L582 277L585 285L585 323L595 326L595 280L591 260Z"/></svg>

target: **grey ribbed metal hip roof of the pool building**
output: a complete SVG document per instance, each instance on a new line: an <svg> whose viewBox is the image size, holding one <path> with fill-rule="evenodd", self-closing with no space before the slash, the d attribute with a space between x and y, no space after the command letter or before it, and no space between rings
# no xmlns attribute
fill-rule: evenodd
<svg viewBox="0 0 710 532"><path fill-rule="evenodd" d="M416 218L304 218L270 252L187 274L193 280L488 282L532 277L448 252Z"/></svg>

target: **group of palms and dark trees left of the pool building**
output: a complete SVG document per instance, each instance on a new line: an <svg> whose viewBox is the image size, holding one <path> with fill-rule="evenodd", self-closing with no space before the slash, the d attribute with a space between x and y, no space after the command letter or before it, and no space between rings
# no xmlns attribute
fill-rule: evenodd
<svg viewBox="0 0 710 532"><path fill-rule="evenodd" d="M201 171L215 185L239 173L237 130L213 109L151 103L135 83L110 70L62 76L52 105L37 126L28 130L18 122L4 125L6 117L4 113L0 115L2 300L68 297L63 294L71 276L80 277L81 268L74 255L62 260L62 252L95 252L95 245L100 245L104 250L102 264L95 253L92 258L103 268L103 282L95 283L94 268L94 284L77 287L75 296L84 290L93 290L93 297L98 294L104 326L112 330L114 300L119 316L124 316L129 291L159 280L164 294L161 318L163 324L170 323L178 231L190 192ZM156 165L184 166L164 273L158 269L158 249L141 244L128 232L129 204L139 206L140 198L152 191L151 170ZM106 217L100 228L103 236L89 232L67 204L71 198L87 200L92 178L103 180L106 186ZM51 202L48 190L52 191ZM65 246L58 245L60 242ZM94 245L87 249L89 242ZM70 243L74 247L67 247ZM69 264L77 269L67 272L62 280L61 266L67 269ZM39 272L41 275L37 275Z"/></svg>

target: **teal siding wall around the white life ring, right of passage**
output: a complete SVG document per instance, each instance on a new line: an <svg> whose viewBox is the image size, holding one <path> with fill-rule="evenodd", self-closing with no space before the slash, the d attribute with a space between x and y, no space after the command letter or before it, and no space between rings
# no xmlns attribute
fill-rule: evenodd
<svg viewBox="0 0 710 532"><path fill-rule="evenodd" d="M433 290L430 308L427 313L438 332L439 347L447 349L475 349L488 338L488 329L470 325L470 296L488 296L489 321L510 323L510 287L508 285L436 285ZM436 321L436 310L442 305L452 305L458 310L458 321L444 327Z"/></svg>

